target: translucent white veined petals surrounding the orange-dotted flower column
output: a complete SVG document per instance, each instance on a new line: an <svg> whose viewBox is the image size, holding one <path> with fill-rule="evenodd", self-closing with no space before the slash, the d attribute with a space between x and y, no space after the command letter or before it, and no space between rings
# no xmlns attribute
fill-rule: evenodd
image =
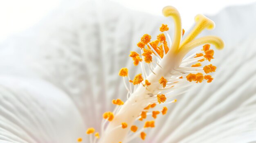
<svg viewBox="0 0 256 143"><path fill-rule="evenodd" d="M210 17L225 48L216 52L215 79L177 97L147 132L146 143L256 141L256 4ZM169 18L87 1L64 5L0 45L0 143L72 143L100 130L112 99L126 99L119 69L134 77L128 57L141 35L155 37ZM185 29L186 30L186 29ZM201 35L201 36L202 36ZM185 34L186 36L186 34Z"/></svg>

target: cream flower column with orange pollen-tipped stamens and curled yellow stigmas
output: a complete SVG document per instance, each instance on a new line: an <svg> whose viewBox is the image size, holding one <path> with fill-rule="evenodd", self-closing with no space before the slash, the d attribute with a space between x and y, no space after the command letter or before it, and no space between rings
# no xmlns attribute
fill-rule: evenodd
<svg viewBox="0 0 256 143"><path fill-rule="evenodd" d="M112 100L116 108L113 112L103 114L101 138L99 139L97 132L92 139L94 128L89 128L87 131L91 143L95 143L97 139L99 143L127 143L137 136L142 140L146 139L148 129L155 127L155 119L161 113L162 116L166 114L168 110L166 105L177 102L173 97L188 92L196 83L213 81L208 74L215 72L216 66L209 64L201 68L201 62L211 62L211 59L214 59L214 51L210 49L210 44L222 49L224 42L216 36L195 38L204 29L214 29L214 22L204 15L197 15L195 27L182 40L185 31L181 27L181 18L177 9L171 6L164 7L163 14L172 17L175 22L173 43L167 33L169 28L165 24L160 27L159 30L163 33L157 35L156 40L151 41L152 37L148 34L141 37L140 42L137 43L141 54L132 51L129 55L135 66L140 64L141 73L131 80L128 69L121 68L119 76L123 77L128 91L127 101ZM202 50L184 59L189 51L201 45L203 45ZM158 109L153 110L154 108ZM144 125L139 122L144 122Z"/></svg>

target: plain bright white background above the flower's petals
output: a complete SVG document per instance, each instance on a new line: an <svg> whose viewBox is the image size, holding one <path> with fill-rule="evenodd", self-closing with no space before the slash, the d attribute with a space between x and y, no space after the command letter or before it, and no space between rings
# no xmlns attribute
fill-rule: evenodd
<svg viewBox="0 0 256 143"><path fill-rule="evenodd" d="M162 15L166 5L176 7L182 16L184 29L193 24L198 13L213 15L231 5L248 4L256 0L112 0L124 7ZM10 35L24 31L40 21L62 0L0 0L0 42Z"/></svg>

